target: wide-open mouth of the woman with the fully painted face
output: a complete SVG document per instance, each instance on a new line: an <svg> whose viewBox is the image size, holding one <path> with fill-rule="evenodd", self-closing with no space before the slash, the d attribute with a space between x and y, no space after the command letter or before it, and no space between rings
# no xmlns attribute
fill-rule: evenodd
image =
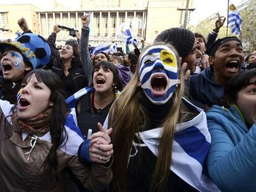
<svg viewBox="0 0 256 192"><path fill-rule="evenodd" d="M156 74L151 78L152 93L156 96L162 96L166 93L167 78L166 75Z"/></svg>

